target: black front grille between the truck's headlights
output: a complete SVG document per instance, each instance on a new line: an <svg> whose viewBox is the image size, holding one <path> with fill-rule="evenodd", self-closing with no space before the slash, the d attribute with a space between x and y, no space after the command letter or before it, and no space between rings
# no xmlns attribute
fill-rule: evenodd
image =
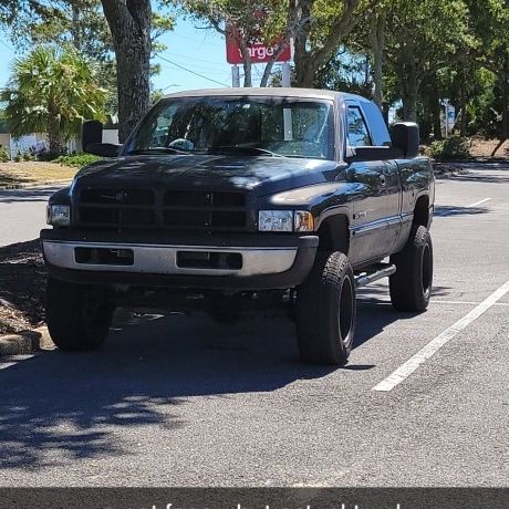
<svg viewBox="0 0 509 509"><path fill-rule="evenodd" d="M91 228L242 231L246 194L177 189L82 189L77 224Z"/></svg>

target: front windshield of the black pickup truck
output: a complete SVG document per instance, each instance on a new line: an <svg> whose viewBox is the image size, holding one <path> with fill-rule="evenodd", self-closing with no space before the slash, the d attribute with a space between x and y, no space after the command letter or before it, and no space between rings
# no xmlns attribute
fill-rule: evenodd
<svg viewBox="0 0 509 509"><path fill-rule="evenodd" d="M333 159L332 102L185 97L157 103L125 154L241 154Z"/></svg>

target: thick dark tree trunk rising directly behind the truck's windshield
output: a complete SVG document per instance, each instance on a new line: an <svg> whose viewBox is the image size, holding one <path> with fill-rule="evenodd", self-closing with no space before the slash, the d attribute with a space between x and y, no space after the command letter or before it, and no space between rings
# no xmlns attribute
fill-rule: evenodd
<svg viewBox="0 0 509 509"><path fill-rule="evenodd" d="M149 107L150 0L101 0L115 46L118 139L124 143Z"/></svg>

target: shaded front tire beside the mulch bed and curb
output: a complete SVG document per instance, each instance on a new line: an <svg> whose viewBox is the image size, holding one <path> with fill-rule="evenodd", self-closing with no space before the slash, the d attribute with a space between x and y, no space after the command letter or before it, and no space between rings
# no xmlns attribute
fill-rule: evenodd
<svg viewBox="0 0 509 509"><path fill-rule="evenodd" d="M114 305L98 287L48 279L46 323L53 343L65 352L100 347L110 330Z"/></svg>

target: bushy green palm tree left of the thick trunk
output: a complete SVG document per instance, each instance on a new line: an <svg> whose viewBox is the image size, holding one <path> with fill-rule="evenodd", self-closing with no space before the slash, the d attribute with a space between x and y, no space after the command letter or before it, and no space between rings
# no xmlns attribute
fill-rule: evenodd
<svg viewBox="0 0 509 509"><path fill-rule="evenodd" d="M61 154L83 120L105 120L106 95L75 50L41 45L14 61L1 100L7 102L4 115L14 137L48 133L50 152Z"/></svg>

